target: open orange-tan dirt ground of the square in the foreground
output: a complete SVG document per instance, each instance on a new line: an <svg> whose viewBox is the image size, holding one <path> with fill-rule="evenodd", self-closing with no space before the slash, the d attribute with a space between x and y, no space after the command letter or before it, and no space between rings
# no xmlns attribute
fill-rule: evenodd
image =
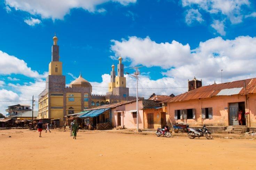
<svg viewBox="0 0 256 170"><path fill-rule="evenodd" d="M11 137L9 137L11 136ZM256 169L256 140L0 130L0 169Z"/></svg>

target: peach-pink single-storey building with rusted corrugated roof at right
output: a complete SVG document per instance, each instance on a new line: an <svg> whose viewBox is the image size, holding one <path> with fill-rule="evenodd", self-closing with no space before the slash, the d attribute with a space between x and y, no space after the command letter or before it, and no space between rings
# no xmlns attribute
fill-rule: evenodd
<svg viewBox="0 0 256 170"><path fill-rule="evenodd" d="M242 125L256 127L256 78L194 88L167 99L170 123L184 122L190 126Z"/></svg>

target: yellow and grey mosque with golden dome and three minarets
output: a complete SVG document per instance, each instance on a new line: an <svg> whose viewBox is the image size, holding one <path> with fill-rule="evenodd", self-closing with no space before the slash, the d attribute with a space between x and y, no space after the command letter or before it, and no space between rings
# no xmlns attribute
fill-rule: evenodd
<svg viewBox="0 0 256 170"><path fill-rule="evenodd" d="M62 75L62 62L59 56L58 38L53 37L52 61L49 63L49 75L46 78L46 88L39 94L39 118L54 118L64 120L64 117L78 113L84 109L134 100L136 96L129 96L124 77L122 57L119 57L117 76L115 66L112 65L110 83L106 95L92 94L92 85L82 77L73 80L66 86L66 78Z"/></svg>

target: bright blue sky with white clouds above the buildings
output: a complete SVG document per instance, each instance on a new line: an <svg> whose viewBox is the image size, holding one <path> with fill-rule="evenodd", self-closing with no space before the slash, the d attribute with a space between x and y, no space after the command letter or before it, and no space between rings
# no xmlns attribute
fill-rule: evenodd
<svg viewBox="0 0 256 170"><path fill-rule="evenodd" d="M0 101L30 100L43 90L54 32L66 82L82 72L94 86L107 86L121 54L126 67L141 68L140 87L186 87L255 77L255 1L252 0L5 0L0 2ZM12 56L12 57L11 57ZM22 61L23 60L23 61ZM132 69L126 69L132 72ZM129 81L128 81L129 80ZM7 82L8 81L8 82ZM129 87L134 80L127 77ZM24 85L28 84L28 85ZM9 86L6 86L9 85ZM39 87L32 87L39 86ZM93 88L105 94L106 88ZM141 89L141 95L186 88ZM134 90L130 91L135 94ZM10 102L0 103L4 112ZM12 103L11 104L15 104Z"/></svg>

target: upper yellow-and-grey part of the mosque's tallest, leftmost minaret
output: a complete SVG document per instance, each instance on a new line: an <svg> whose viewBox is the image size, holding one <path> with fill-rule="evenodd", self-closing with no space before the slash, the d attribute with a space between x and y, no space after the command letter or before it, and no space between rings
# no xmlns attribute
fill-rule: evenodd
<svg viewBox="0 0 256 170"><path fill-rule="evenodd" d="M49 63L49 75L62 75L62 62L59 61L59 45L57 45L58 38L56 34L53 37L52 45L52 61Z"/></svg>

